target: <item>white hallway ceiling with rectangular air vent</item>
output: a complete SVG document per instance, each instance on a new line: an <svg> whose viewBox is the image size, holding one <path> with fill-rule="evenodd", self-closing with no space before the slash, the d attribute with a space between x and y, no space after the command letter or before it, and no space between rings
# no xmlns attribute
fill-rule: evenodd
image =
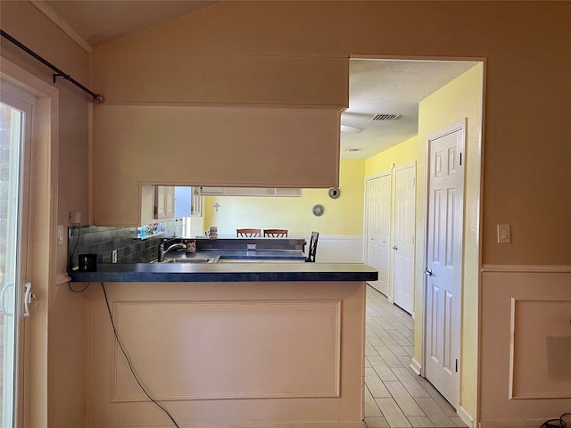
<svg viewBox="0 0 571 428"><path fill-rule="evenodd" d="M341 124L364 128L341 133L341 156L366 159L418 134L418 103L459 77L476 62L351 60L349 108ZM370 121L377 114L398 114L390 121ZM346 149L359 152L345 152Z"/></svg>

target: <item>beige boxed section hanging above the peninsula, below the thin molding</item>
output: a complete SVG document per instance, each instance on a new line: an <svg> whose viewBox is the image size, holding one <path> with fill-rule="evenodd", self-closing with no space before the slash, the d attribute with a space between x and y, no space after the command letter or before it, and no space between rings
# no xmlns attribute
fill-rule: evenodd
<svg viewBox="0 0 571 428"><path fill-rule="evenodd" d="M339 112L97 105L93 219L139 226L140 185L332 187Z"/></svg>

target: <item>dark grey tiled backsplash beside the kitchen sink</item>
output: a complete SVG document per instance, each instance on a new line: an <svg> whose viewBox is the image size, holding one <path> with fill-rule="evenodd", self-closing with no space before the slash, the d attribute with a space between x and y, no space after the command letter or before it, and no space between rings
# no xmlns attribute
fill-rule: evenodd
<svg viewBox="0 0 571 428"><path fill-rule="evenodd" d="M152 261L157 258L161 239L182 234L181 219L161 222L161 231L161 235L147 235L145 239L139 239L137 227L70 227L68 270L78 268L79 254L97 254L97 263L111 263L113 250L117 250L118 263Z"/></svg>

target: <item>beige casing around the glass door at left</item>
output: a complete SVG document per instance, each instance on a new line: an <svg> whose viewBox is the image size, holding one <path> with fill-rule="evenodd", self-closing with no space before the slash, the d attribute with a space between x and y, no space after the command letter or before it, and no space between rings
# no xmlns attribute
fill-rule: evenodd
<svg viewBox="0 0 571 428"><path fill-rule="evenodd" d="M19 427L48 426L48 307L57 272L57 201L59 93L41 78L0 58L0 75L14 86L37 97L30 152L33 173L29 191L28 277L37 305L31 305L24 324L25 346L19 373L16 418ZM69 276L62 275L69 280ZM65 284L63 282L62 284ZM23 372L23 373L22 373Z"/></svg>

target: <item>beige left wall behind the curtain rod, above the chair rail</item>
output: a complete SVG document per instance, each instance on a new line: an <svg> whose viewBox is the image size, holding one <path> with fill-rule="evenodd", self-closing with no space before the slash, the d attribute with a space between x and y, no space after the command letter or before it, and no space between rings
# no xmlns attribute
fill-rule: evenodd
<svg viewBox="0 0 571 428"><path fill-rule="evenodd" d="M87 52L28 2L3 1L0 5L0 25L5 32L72 78L89 86L91 59ZM4 37L0 46L4 58L54 85L53 70L21 51ZM70 226L70 210L80 211L82 222L87 224L87 111L91 96L62 78L58 78L54 86L59 91L60 99L58 224ZM58 247L59 272L65 272L67 268L66 245Z"/></svg>

